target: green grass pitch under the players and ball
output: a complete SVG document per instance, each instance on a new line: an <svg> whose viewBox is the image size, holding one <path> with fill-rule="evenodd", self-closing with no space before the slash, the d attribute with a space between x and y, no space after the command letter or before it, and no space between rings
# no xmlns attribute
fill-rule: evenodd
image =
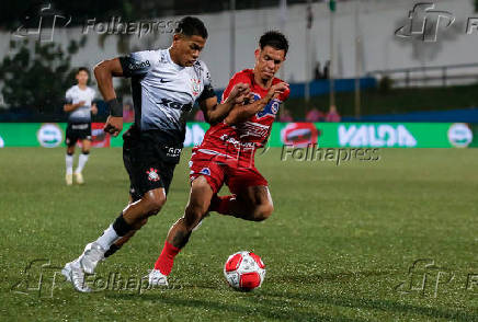
<svg viewBox="0 0 478 322"><path fill-rule="evenodd" d="M87 184L71 187L64 183L64 149L1 149L0 320L478 320L478 149L384 149L379 161L340 166L282 162L280 152L257 160L270 181L273 216L258 223L213 214L177 257L171 289L138 294L134 287L182 214L190 150L160 215L99 266L96 276L132 277L129 288L78 294L57 275L52 296L58 269L44 268L38 294L42 263L27 273L25 266L48 258L60 267L117 216L128 185L121 149L93 150ZM237 292L226 285L224 262L239 250L262 256L262 288ZM421 265L424 291L407 285L419 258L441 267ZM413 287L425 272L418 271Z"/></svg>

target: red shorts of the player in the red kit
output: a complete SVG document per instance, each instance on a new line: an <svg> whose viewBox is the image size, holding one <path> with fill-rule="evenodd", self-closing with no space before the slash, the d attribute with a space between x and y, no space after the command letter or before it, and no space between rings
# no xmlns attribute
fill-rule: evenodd
<svg viewBox="0 0 478 322"><path fill-rule="evenodd" d="M249 186L268 185L268 181L248 160L224 158L196 150L191 157L190 169L191 182L203 175L215 194L225 183L232 194Z"/></svg>

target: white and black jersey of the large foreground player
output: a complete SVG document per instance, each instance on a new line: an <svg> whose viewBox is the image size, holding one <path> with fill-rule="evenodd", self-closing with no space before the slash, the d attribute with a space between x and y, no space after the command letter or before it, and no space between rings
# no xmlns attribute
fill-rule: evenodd
<svg viewBox="0 0 478 322"><path fill-rule="evenodd" d="M183 142L185 116L195 101L215 95L206 65L179 66L169 49L132 53L120 60L123 74L132 77L136 126L160 130L164 141Z"/></svg>

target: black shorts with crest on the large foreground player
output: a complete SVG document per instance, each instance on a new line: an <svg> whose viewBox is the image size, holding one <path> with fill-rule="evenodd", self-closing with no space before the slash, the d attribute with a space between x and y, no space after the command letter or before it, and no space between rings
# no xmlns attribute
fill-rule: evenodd
<svg viewBox="0 0 478 322"><path fill-rule="evenodd" d="M168 194L182 145L167 146L160 142L158 133L140 133L134 125L123 135L123 162L129 175L133 200L160 187Z"/></svg>

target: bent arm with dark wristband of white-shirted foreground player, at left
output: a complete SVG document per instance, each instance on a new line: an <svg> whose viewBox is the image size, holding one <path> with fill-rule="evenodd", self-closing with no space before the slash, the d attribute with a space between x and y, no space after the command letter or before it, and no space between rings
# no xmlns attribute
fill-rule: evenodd
<svg viewBox="0 0 478 322"><path fill-rule="evenodd" d="M104 131L117 136L123 129L123 105L116 99L113 77L123 76L120 58L103 60L94 67L93 71L98 88L110 107L110 116L106 119Z"/></svg>

